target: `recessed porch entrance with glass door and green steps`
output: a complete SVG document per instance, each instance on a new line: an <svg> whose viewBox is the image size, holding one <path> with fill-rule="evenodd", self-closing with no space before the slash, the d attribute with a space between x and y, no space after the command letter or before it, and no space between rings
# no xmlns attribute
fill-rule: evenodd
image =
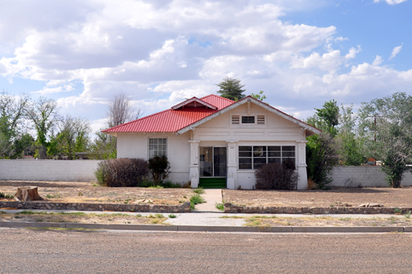
<svg viewBox="0 0 412 274"><path fill-rule="evenodd" d="M199 187L225 188L227 175L226 147L200 147Z"/></svg>

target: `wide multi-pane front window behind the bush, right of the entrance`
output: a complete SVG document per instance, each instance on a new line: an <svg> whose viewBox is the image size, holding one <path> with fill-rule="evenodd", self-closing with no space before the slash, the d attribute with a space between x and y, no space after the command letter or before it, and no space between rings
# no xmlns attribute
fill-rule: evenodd
<svg viewBox="0 0 412 274"><path fill-rule="evenodd" d="M266 163L295 163L295 146L239 146L239 169L255 170Z"/></svg>

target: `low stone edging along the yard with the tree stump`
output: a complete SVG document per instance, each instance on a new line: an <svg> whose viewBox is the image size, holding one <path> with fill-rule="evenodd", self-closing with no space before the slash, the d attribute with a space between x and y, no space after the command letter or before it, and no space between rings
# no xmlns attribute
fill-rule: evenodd
<svg viewBox="0 0 412 274"><path fill-rule="evenodd" d="M155 213L187 213L190 212L190 201L181 205L148 205L148 204L113 204L113 203L49 203L49 202L0 202L1 207L17 209L45 210L78 210L78 211L111 211L111 212L155 212Z"/></svg>

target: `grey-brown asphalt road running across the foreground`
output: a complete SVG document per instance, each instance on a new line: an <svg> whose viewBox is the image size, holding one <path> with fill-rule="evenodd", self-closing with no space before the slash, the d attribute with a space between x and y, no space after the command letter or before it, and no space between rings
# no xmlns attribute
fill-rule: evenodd
<svg viewBox="0 0 412 274"><path fill-rule="evenodd" d="M0 229L0 273L412 273L412 234Z"/></svg>

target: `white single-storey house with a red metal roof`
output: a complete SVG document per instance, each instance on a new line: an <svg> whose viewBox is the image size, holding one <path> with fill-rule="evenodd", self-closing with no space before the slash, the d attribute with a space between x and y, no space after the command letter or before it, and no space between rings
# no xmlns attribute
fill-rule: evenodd
<svg viewBox="0 0 412 274"><path fill-rule="evenodd" d="M260 165L293 161L303 190L306 137L321 130L251 96L208 95L103 132L117 137L118 158L168 157L174 182L252 189Z"/></svg>

